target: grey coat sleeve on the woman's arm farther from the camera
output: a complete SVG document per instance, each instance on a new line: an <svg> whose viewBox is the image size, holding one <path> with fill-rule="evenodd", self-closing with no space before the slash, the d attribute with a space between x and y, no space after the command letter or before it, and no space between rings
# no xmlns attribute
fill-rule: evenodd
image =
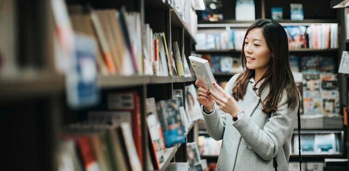
<svg viewBox="0 0 349 171"><path fill-rule="evenodd" d="M225 92L231 94L232 87L235 83L239 74L234 75L226 84ZM226 116L227 113L221 111L219 107L214 103L214 110L210 114L206 114L203 112L203 107L201 106L202 115L204 118L204 123L208 135L212 137L214 140L222 140L225 130Z"/></svg>

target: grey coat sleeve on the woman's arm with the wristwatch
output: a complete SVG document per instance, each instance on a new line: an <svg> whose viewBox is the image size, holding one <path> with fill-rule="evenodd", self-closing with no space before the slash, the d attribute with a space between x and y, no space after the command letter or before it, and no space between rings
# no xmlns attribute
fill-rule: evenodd
<svg viewBox="0 0 349 171"><path fill-rule="evenodd" d="M272 114L263 129L259 128L248 114L241 115L232 124L252 150L266 161L278 154L279 149L292 134L296 123L298 107L288 108L285 101L286 97L281 101L283 103L280 103L279 110Z"/></svg>

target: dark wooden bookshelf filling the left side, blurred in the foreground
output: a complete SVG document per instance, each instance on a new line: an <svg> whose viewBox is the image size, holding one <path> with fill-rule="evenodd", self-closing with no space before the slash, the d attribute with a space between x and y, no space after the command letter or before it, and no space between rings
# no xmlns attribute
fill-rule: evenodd
<svg viewBox="0 0 349 171"><path fill-rule="evenodd" d="M2 102L0 104L0 113L4 115L1 124L11 130L6 132L4 136L4 139L8 140L5 143L5 146L8 148L6 148L4 153L7 156L7 160L3 170L57 171L60 165L60 162L57 161L59 156L58 149L60 148L62 136L67 132L66 128L72 125L83 125L88 118L88 113L91 111L107 110L109 94L130 91L136 92L139 97L140 142L143 154L141 156L143 158L142 168L144 171L154 170L154 168L149 169L152 168L152 166L148 165L152 163L152 158L146 154L149 143L151 143L146 124L146 98L154 97L156 102L172 99L174 89L181 89L184 95L185 86L193 84L196 81L195 76L179 77L139 74L124 76L122 74L102 74L98 70L96 82L94 83L100 93L99 100L94 104L76 108L71 107L67 100L67 96L69 96L67 94L69 90L67 77L72 73L61 72L57 67L57 63L59 63L57 61L63 58L56 59L56 57L64 55L55 53L57 50L55 49L56 42L54 42L56 21L54 17L48 17L52 16L54 10L51 7L51 2L53 1L56 0L31 0L26 2L14 0L13 3L12 1L6 1L0 4L1 12L2 4L5 7L12 7L10 8L12 12L17 14L13 22L19 23L16 29L13 29L15 30L13 34L17 35L16 38L18 39L14 43L15 47L13 49L18 51L18 54L10 57L5 56L6 60L7 58L13 58L16 74L11 75L9 73L8 75L10 76L3 76L2 74L7 74L4 73L7 70L4 71L1 68L2 66L0 67L0 101ZM89 14L90 10L116 9L121 11L124 9L123 7L125 7L127 12L138 12L140 14L141 30L143 31L145 24L149 23L154 33L164 32L170 55L172 43L177 41L182 61L187 60L188 54L192 51L192 45L196 43L193 32L167 0L165 2L163 0L62 0L61 2L65 2L69 7L74 5L82 6L83 14ZM55 7L61 9L59 8L61 6ZM68 14L73 13L70 11L72 9L65 10L68 11ZM21 19L21 16L26 17ZM71 16L69 15L68 17L71 21ZM3 17L0 18L3 19ZM76 23L72 22L71 24ZM85 27L86 25L81 24L80 26ZM26 28L28 28L30 35L27 35L25 32ZM7 32L4 32L1 27L0 35L2 36L5 33ZM34 35L37 36L35 37ZM143 38L144 35L141 35ZM95 40L98 43L99 40L97 38ZM3 59L2 43L0 45L1 61ZM96 46L99 48L98 44ZM142 51L143 54L144 52ZM17 63L19 63L18 66ZM7 63L5 64L7 65ZM22 65L25 65L25 67ZM183 103L185 107L185 99L183 99ZM186 142L195 140L194 130L196 124L197 122L194 121L189 125L188 132L184 135ZM81 132L77 134L89 135L91 133L86 131L82 134ZM25 143L23 144L23 142ZM165 171L171 162L186 160L186 157L179 158L180 156L186 156L185 148L185 143L167 148L165 162L161 165L160 170ZM127 160L125 159L125 161Z"/></svg>

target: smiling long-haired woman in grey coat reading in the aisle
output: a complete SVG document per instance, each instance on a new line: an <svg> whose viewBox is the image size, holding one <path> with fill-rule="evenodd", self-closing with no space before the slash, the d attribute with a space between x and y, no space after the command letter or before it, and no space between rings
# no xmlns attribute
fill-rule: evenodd
<svg viewBox="0 0 349 171"><path fill-rule="evenodd" d="M299 100L284 28L268 19L253 23L241 60L244 72L225 90L213 83L219 93L195 82L207 132L223 140L217 171L274 171L274 157L278 171L288 171Z"/></svg>

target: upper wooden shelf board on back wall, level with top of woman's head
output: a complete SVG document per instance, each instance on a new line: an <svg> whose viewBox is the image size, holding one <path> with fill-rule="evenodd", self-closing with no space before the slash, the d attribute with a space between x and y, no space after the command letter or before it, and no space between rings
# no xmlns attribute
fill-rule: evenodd
<svg viewBox="0 0 349 171"><path fill-rule="evenodd" d="M282 26L287 25L310 25L310 24L317 24L317 23L338 23L339 21L337 19L304 19L304 20L290 20L290 19L284 19L284 20L276 20L279 22ZM241 27L241 28L247 28L249 27L254 21L236 21L236 20L222 20L222 21L198 21L197 27L198 28L224 28L224 27Z"/></svg>

